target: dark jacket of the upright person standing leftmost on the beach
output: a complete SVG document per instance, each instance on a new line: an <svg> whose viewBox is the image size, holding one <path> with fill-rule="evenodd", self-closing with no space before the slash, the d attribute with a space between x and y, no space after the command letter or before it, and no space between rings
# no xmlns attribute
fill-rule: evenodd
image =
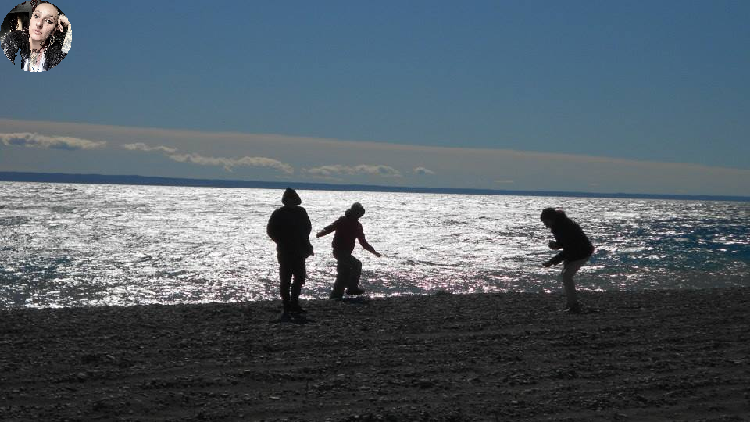
<svg viewBox="0 0 750 422"><path fill-rule="evenodd" d="M276 242L279 255L294 258L312 255L311 230L307 211L298 205L285 205L275 210L266 226L266 233Z"/></svg>

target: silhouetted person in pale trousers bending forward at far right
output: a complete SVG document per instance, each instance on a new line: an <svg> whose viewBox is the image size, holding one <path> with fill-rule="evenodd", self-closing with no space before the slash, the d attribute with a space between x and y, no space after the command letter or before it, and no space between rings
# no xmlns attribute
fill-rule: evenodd
<svg viewBox="0 0 750 422"><path fill-rule="evenodd" d="M576 297L576 286L573 276L581 269L594 253L586 234L575 221L568 218L562 210L545 208L542 210L542 222L550 230L555 240L550 240L550 249L562 249L552 259L545 262L545 267L563 263L562 279L565 287L565 309L569 312L580 312L581 305Z"/></svg>

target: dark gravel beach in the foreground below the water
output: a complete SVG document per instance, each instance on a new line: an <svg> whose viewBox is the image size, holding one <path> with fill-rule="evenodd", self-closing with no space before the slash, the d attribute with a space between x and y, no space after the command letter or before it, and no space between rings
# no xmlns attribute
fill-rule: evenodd
<svg viewBox="0 0 750 422"><path fill-rule="evenodd" d="M750 420L750 289L0 311L0 420Z"/></svg>

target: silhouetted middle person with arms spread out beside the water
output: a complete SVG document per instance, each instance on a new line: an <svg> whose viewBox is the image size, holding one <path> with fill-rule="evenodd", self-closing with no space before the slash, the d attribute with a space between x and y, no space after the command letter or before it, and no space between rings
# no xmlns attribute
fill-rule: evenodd
<svg viewBox="0 0 750 422"><path fill-rule="evenodd" d="M365 250L380 257L375 248L367 243L365 239L362 224L359 222L360 217L363 215L365 215L364 207L359 202L355 202L350 209L346 210L343 217L340 217L316 235L316 237L323 237L331 232L336 232L333 235L331 245L333 246L333 257L338 262L336 266L338 274L336 275L336 282L333 284L331 299L341 299L344 289L346 289L346 294L349 295L361 295L364 293L364 290L359 287L362 262L352 256L355 239L359 240L359 244Z"/></svg>

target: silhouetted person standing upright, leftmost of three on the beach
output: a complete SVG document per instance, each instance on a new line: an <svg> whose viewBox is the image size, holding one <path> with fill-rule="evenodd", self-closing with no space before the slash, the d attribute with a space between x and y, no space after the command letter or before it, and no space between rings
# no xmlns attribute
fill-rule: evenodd
<svg viewBox="0 0 750 422"><path fill-rule="evenodd" d="M302 199L294 189L284 191L281 203L284 206L271 214L266 232L276 242L281 300L284 303L284 315L288 316L290 313L305 312L299 306L299 295L305 284L305 259L313 254L309 240L312 224L307 211L300 206Z"/></svg>

